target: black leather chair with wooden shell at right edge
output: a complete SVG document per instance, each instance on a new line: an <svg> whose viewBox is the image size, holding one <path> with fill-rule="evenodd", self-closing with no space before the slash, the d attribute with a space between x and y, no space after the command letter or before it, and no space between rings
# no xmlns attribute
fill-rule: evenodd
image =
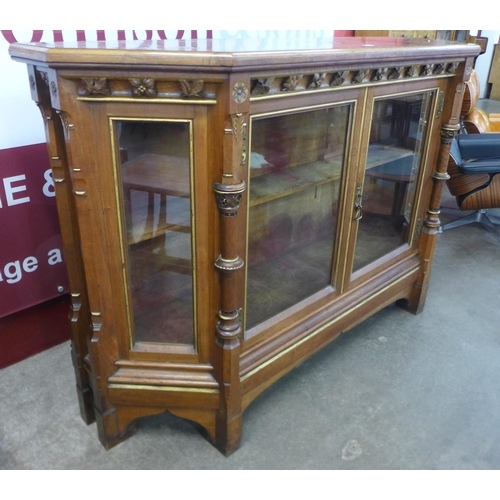
<svg viewBox="0 0 500 500"><path fill-rule="evenodd" d="M500 238L500 217L488 209L500 208L500 133L458 134L453 140L447 181L460 210L475 213L439 228L447 229L479 222Z"/></svg>

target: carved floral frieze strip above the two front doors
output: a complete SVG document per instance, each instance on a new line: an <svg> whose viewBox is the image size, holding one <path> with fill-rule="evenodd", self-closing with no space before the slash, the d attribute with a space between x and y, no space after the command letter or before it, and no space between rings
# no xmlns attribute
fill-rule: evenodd
<svg viewBox="0 0 500 500"><path fill-rule="evenodd" d="M255 98L289 92L314 92L331 87L376 85L384 81L447 76L454 74L458 65L458 62L439 62L253 78L250 93Z"/></svg>

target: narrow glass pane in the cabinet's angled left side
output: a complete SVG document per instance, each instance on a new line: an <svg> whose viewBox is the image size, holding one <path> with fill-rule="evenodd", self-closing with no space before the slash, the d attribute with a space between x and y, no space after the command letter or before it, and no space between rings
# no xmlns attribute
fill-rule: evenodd
<svg viewBox="0 0 500 500"><path fill-rule="evenodd" d="M135 342L193 344L190 123L117 123Z"/></svg>

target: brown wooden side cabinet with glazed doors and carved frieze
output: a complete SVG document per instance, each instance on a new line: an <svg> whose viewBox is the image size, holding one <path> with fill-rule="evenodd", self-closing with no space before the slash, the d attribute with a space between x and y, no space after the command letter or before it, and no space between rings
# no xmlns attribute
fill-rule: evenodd
<svg viewBox="0 0 500 500"><path fill-rule="evenodd" d="M388 304L422 310L478 51L11 46L46 127L81 414L106 448L168 410L229 454L294 366Z"/></svg>

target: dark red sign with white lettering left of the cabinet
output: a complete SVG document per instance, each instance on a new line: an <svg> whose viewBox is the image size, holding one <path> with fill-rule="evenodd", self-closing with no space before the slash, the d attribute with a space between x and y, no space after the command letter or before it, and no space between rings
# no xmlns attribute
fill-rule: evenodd
<svg viewBox="0 0 500 500"><path fill-rule="evenodd" d="M68 291L46 144L0 150L0 317Z"/></svg>

